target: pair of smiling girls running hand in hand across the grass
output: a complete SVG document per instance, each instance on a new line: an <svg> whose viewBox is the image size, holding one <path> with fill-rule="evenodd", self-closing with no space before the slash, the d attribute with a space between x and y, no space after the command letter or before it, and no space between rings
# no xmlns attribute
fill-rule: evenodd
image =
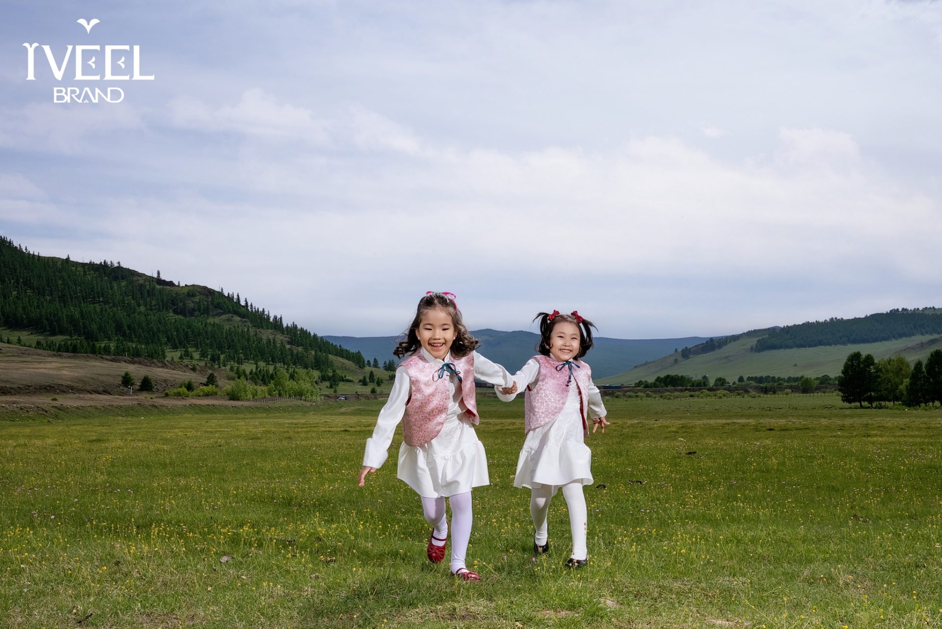
<svg viewBox="0 0 942 629"><path fill-rule="evenodd" d="M471 489L489 483L484 447L474 430L479 421L476 378L495 384L498 396L507 401L518 388L528 388L527 439L514 485L532 492L534 552L549 550L546 515L550 499L561 489L573 531L573 555L566 565L581 567L587 562L582 485L593 482L592 454L582 441L583 432L588 432L587 413L595 428L602 427L604 432L609 425L591 369L578 360L593 345L593 324L575 312L541 313L537 318L541 318L540 355L511 377L502 366L474 351L478 341L464 327L454 295L427 294L419 301L406 339L394 352L408 358L399 364L373 436L366 440L361 487L366 475L385 462L393 433L402 422L397 476L419 494L432 527L426 554L434 563L446 555L448 498L450 569L465 581L480 579L465 565L473 519Z"/></svg>

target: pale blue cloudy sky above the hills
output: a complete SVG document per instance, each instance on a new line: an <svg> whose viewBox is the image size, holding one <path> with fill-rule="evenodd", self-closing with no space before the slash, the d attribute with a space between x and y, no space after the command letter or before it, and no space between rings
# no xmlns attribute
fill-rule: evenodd
<svg viewBox="0 0 942 629"><path fill-rule="evenodd" d="M622 338L942 306L942 2L4 7L0 234L43 255L355 336L427 290Z"/></svg>

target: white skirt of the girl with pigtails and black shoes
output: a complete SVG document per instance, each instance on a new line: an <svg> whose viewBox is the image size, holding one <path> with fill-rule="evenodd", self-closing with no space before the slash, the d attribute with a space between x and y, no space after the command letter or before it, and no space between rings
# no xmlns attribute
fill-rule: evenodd
<svg viewBox="0 0 942 629"><path fill-rule="evenodd" d="M583 430L579 397L573 387L559 416L527 433L513 486L549 486L555 493L573 482L592 485L592 450L585 444Z"/></svg>

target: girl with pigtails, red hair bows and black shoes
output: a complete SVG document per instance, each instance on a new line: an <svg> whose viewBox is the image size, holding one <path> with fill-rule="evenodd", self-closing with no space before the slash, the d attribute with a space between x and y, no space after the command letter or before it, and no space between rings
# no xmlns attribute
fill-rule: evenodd
<svg viewBox="0 0 942 629"><path fill-rule="evenodd" d="M526 394L527 438L517 460L514 487L530 490L530 515L533 518L533 552L549 552L546 516L549 503L558 491L569 508L573 536L573 554L566 561L570 568L588 563L586 547L587 511L583 485L591 485L592 451L584 442L589 434L609 426L602 396L592 381L592 368L581 359L593 347L592 321L576 311L571 315L540 313L540 342L537 356L531 358L513 379L518 391ZM497 388L497 396L510 401L512 389Z"/></svg>

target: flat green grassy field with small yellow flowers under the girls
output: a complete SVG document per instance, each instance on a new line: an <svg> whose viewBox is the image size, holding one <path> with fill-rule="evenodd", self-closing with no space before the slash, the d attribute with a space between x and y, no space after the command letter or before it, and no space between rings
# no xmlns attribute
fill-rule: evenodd
<svg viewBox="0 0 942 629"><path fill-rule="evenodd" d="M592 564L533 557L522 403L482 398L480 583L425 559L382 401L0 410L4 627L939 627L942 411L609 399ZM601 487L604 485L604 487Z"/></svg>

